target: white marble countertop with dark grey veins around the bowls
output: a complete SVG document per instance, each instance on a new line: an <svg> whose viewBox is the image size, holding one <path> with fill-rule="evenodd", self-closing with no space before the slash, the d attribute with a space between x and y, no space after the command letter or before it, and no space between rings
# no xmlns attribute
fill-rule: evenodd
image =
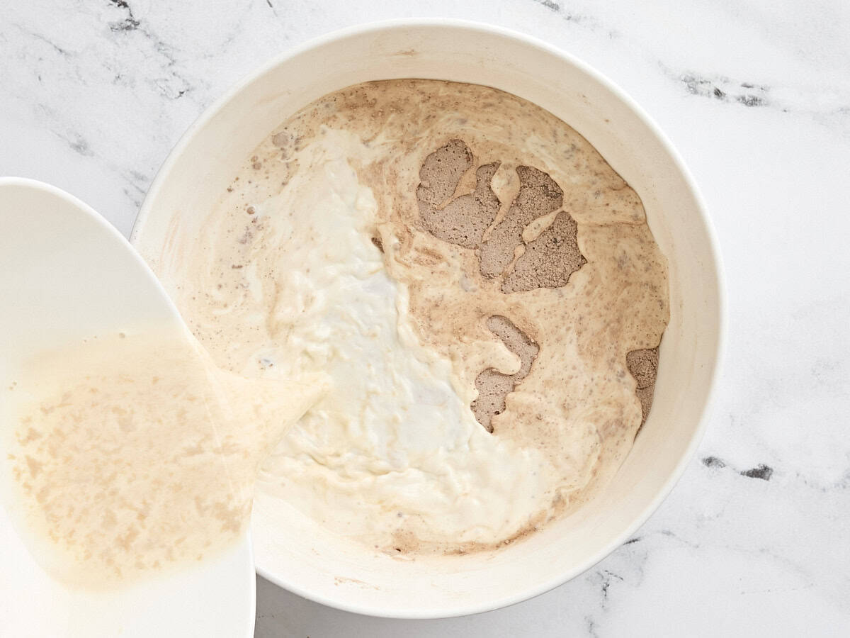
<svg viewBox="0 0 850 638"><path fill-rule="evenodd" d="M842 0L3 0L0 174L125 234L197 115L309 37L402 16L489 21L587 60L655 117L708 202L728 353L699 453L627 544L479 616L391 621L262 579L257 635L850 633L850 5Z"/></svg>

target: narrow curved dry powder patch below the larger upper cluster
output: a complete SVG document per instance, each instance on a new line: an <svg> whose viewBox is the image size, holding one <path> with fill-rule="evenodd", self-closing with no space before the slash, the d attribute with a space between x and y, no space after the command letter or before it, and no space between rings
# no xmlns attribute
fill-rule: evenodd
<svg viewBox="0 0 850 638"><path fill-rule="evenodd" d="M531 370L540 347L530 339L522 330L517 328L507 317L501 315L491 316L487 320L487 328L494 333L508 350L519 356L519 371L514 374L504 374L492 367L479 373L475 378L475 387L479 396L472 404L475 419L488 432L493 431L492 420L496 414L501 414L505 409L505 397L513 392Z"/></svg>

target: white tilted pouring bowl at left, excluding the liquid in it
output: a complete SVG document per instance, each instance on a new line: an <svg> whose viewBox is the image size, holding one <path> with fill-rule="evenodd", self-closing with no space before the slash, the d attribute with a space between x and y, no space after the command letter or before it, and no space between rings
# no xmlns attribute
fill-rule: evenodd
<svg viewBox="0 0 850 638"><path fill-rule="evenodd" d="M38 350L139 321L180 321L124 237L82 202L29 179L0 178L0 299L4 390L20 362ZM0 428L13 423L4 414ZM8 433L0 435L5 441ZM6 471L3 496L10 493ZM167 576L88 591L44 572L14 527L15 504L0 499L0 635L251 634L255 590L247 537Z"/></svg>

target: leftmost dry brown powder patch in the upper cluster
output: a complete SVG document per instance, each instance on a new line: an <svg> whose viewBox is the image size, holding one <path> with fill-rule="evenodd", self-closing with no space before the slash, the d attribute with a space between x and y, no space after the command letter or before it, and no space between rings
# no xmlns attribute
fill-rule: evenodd
<svg viewBox="0 0 850 638"><path fill-rule="evenodd" d="M469 147L462 140L451 140L425 158L416 189L422 225L433 236L463 248L478 248L500 206L496 193L490 189L498 162L484 164L475 171L473 192L446 203L472 165Z"/></svg>

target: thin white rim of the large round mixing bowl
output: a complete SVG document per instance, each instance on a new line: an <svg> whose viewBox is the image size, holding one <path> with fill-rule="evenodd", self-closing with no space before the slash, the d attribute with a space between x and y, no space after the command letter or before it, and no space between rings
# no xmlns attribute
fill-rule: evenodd
<svg viewBox="0 0 850 638"><path fill-rule="evenodd" d="M700 412L699 422L694 428L693 434L690 436L688 445L680 456L676 466L672 470L670 476L667 477L664 484L660 487L658 492L655 493L655 497L649 501L649 503L643 508L643 510L638 516L632 519L632 522L629 525L623 528L621 533L616 535L615 538L612 538L609 543L605 544L601 550L598 550L594 554L589 555L586 561L582 561L581 564L577 565L576 567L572 567L568 570L565 570L557 577L548 578L546 581L537 584L535 587L526 588L522 591L516 592L513 595L502 596L500 599L497 599L495 601L485 601L480 602L479 604L466 605L463 607L452 607L446 609L432 608L400 611L389 609L386 607L378 607L374 605L348 603L346 601L340 601L328 597L326 595L321 595L313 590L303 588L297 583L287 581L286 578L280 578L280 576L278 576L277 574L259 568L255 564L255 569L257 573L263 578L269 580L269 582L274 583L279 587L282 587L283 589L292 592L293 594L306 598L309 601L318 602L322 605L325 605L326 607L333 607L344 612L359 613L378 618L455 618L475 613L490 612L496 609L510 607L512 605L518 604L519 602L528 601L531 598L535 598L538 595L545 594L547 591L553 590L556 587L567 583L573 578L576 578L582 573L592 569L592 567L595 567L600 561L603 561L604 558L606 558L614 550L624 544L626 540L630 538L635 532L637 532L638 528L642 527L643 524L649 520L649 517L655 513L655 510L660 507L660 504L672 492L673 487L676 487L676 484L682 477L685 468L688 466L691 459L693 459L694 453L696 453L696 449L700 445L700 441L702 441L703 436L705 436L708 419L711 415L711 410L717 402L717 379L719 378L720 370L726 352L728 319L727 292L725 275L723 271L723 259L720 251L720 244L717 239L717 231L715 230L714 225L711 223L711 216L708 213L708 208L706 207L705 199L703 198L699 188L697 187L693 175L690 173L689 169L685 165L682 156L672 145L671 140L661 130L655 120L653 120L652 117L649 117L649 113L647 113L647 111L644 111L643 107L639 105L637 101L635 101L629 94L626 94L626 92L617 84L615 84L612 80L604 76L604 74L600 71L597 71L595 68L587 64L587 62L584 62L583 60L580 60L579 58L575 57L574 54L570 54L564 51L563 49L554 46L553 44L549 44L541 40L538 37L526 35L520 31L515 31L504 26L490 25L475 20L457 20L452 18L394 18L391 20L377 20L354 26L347 26L342 29L329 31L320 36L310 38L309 40L294 47L287 48L282 53L272 57L263 65L258 66L258 68L254 71L251 71L247 75L243 76L241 80L239 80L231 88L229 88L229 90L227 90L221 97L219 97L218 100L213 101L211 105L207 106L207 108L201 112L201 115L197 117L197 119L195 119L195 122L193 122L190 127L186 129L185 133L179 138L177 144L173 146L172 151L169 152L165 162L162 163L159 171L156 174L156 178L151 183L150 189L144 197L144 202L142 202L141 208L139 208L139 214L136 216L135 222L133 223L133 230L130 232L130 242L133 243L133 245L135 245L135 243L137 242L139 233L144 227L144 223L148 215L150 214L150 209L153 208L152 202L156 200L156 197L158 195L158 192L161 190L162 185L167 181L169 174L171 174L173 165L178 161L178 158L182 156L185 148L190 145L190 142L192 140L194 140L195 135L198 133L198 131L201 128L204 128L207 123L212 120L213 117L218 116L218 113L222 111L224 106L227 105L230 100L233 100L236 95L240 94L247 86L254 83L256 80L258 80L259 77L262 77L263 75L274 69L275 66L279 66L286 60L290 60L291 58L299 54L303 54L304 52L310 49L324 46L327 43L331 43L337 39L352 36L362 36L366 34L377 34L382 31L393 31L399 28L408 28L411 26L444 28L457 31L478 31L486 33L488 35L495 35L498 37L511 39L513 41L518 41L519 43L524 44L530 48L539 49L545 54L553 55L554 57L563 60L565 63L575 66L579 71L582 71L583 73L587 74L587 76L591 77L593 81L599 83L604 88L609 90L609 92L613 94L615 98L621 100L624 105L626 105L635 115L638 116L640 120L643 121L643 123L649 128L650 132L655 135L655 138L659 140L660 145L672 159L672 162L675 164L677 170L682 175L684 184L694 197L694 202L696 203L696 210L699 214L700 222L702 223L706 231L706 237L708 239L707 248L713 261L715 270L714 274L717 279L717 356L715 357L715 360L711 367L711 371L709 373L706 400Z"/></svg>

